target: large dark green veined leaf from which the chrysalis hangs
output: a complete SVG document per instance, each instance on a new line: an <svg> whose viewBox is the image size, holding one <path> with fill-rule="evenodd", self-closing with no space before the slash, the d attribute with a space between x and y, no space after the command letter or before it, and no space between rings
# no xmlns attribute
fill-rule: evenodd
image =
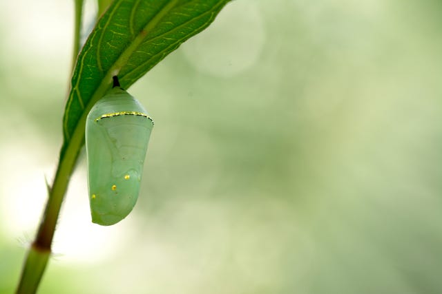
<svg viewBox="0 0 442 294"><path fill-rule="evenodd" d="M125 89L215 19L229 0L115 0L79 53L64 113L64 145L77 154L90 108L118 75ZM70 142L75 137L75 145ZM81 142L80 142L81 141Z"/></svg>

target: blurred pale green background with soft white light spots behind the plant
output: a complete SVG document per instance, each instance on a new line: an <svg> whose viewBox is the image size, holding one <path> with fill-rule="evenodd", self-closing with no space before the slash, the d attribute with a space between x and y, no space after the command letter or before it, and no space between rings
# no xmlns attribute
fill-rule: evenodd
<svg viewBox="0 0 442 294"><path fill-rule="evenodd" d="M0 10L0 293L55 171L72 9ZM231 2L129 90L155 128L113 227L90 222L81 154L39 293L442 293L441 12Z"/></svg>

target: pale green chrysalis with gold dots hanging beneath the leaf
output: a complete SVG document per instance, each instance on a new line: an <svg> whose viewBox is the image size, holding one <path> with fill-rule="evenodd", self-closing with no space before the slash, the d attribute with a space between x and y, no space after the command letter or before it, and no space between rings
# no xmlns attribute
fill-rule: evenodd
<svg viewBox="0 0 442 294"><path fill-rule="evenodd" d="M137 202L153 120L114 76L86 119L89 203L92 222L109 226Z"/></svg>

